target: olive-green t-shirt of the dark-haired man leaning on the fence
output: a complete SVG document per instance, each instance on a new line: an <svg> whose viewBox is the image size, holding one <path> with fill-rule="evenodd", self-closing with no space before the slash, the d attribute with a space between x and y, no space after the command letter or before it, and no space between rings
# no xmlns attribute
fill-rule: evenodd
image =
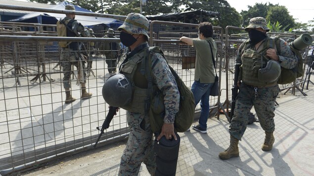
<svg viewBox="0 0 314 176"><path fill-rule="evenodd" d="M211 48L209 47L207 40L212 45L215 59L217 54L217 44L212 37L206 39L193 39L193 47L196 49L194 80L199 80L200 83L213 83L215 82L216 76Z"/></svg>

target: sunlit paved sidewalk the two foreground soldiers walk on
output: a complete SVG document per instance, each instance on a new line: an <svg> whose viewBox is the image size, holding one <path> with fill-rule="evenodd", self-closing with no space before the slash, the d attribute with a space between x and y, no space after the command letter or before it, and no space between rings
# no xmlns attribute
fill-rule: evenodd
<svg viewBox="0 0 314 176"><path fill-rule="evenodd" d="M313 76L312 76L313 77ZM275 110L275 143L270 152L261 145L265 134L259 123L249 125L239 142L240 157L221 160L229 145L229 123L224 115L208 120L207 134L191 129L181 137L177 176L314 176L314 85L308 96L280 94ZM195 122L196 124L197 122ZM127 140L45 163L20 176L117 176ZM17 174L15 174L17 175ZM149 176L142 164L139 176Z"/></svg>

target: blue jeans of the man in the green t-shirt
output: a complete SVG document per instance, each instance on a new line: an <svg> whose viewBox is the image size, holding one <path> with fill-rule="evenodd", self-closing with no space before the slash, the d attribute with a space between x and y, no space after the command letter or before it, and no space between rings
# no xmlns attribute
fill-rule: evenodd
<svg viewBox="0 0 314 176"><path fill-rule="evenodd" d="M195 106L201 101L201 116L198 123L202 129L207 128L207 119L209 116L209 93L214 83L200 83L194 81L191 91L194 95Z"/></svg>

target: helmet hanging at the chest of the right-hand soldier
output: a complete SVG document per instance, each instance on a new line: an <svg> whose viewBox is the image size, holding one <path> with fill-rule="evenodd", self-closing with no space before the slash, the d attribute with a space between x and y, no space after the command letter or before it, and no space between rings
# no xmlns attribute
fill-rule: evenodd
<svg viewBox="0 0 314 176"><path fill-rule="evenodd" d="M274 82L276 81L281 73L280 64L277 61L269 60L267 65L263 69L259 69L259 81L261 82Z"/></svg>

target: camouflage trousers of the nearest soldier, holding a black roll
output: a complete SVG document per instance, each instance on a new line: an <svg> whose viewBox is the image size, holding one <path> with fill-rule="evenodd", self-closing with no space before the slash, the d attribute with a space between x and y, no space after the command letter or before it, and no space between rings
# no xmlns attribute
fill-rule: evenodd
<svg viewBox="0 0 314 176"><path fill-rule="evenodd" d="M127 116L131 131L121 157L119 176L137 176L142 162L146 165L149 174L154 175L156 156L149 117L129 111Z"/></svg>

